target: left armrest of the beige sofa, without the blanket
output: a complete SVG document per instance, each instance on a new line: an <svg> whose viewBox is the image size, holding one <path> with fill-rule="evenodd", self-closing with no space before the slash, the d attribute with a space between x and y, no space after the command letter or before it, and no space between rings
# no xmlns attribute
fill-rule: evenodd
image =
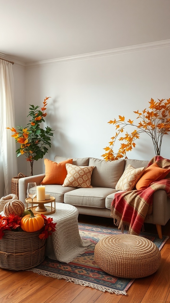
<svg viewBox="0 0 170 303"><path fill-rule="evenodd" d="M41 174L19 179L19 200L22 201L24 205L26 205L25 199L27 198L28 182L36 182L37 185L40 185L44 177L45 174Z"/></svg>

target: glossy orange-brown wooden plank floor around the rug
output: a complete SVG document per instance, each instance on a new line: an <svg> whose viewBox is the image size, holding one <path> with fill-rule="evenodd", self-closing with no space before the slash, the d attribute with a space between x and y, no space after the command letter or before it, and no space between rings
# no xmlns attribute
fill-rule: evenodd
<svg viewBox="0 0 170 303"><path fill-rule="evenodd" d="M111 218L86 215L79 215L79 222L114 226ZM145 231L157 233L151 224L145 225ZM162 234L170 236L169 221L162 227ZM162 248L161 256L158 271L136 279L127 295L110 294L31 271L0 269L0 303L170 303L170 239Z"/></svg>

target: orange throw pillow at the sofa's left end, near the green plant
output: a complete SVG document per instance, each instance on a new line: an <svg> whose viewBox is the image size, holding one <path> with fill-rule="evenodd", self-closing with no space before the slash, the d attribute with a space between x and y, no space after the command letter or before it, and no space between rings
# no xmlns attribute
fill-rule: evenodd
<svg viewBox="0 0 170 303"><path fill-rule="evenodd" d="M63 185L67 176L66 163L73 163L73 159L68 159L62 162L54 162L48 159L44 159L45 164L45 177L41 181L41 184L58 184Z"/></svg>

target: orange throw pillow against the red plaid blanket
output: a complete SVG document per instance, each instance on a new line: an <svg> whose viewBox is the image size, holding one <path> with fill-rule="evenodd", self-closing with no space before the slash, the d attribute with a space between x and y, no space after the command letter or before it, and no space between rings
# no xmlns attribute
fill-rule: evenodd
<svg viewBox="0 0 170 303"><path fill-rule="evenodd" d="M147 188L152 182L164 179L169 172L170 168L161 168L156 162L153 163L145 169L142 177L136 183L136 189Z"/></svg>

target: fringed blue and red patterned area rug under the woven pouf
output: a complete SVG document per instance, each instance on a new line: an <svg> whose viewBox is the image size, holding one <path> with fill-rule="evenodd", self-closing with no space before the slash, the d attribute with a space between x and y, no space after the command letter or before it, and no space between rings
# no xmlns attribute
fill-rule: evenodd
<svg viewBox="0 0 170 303"><path fill-rule="evenodd" d="M108 235L121 234L121 231L116 228L82 223L79 223L79 231L83 239L90 240L91 242L84 254L78 256L70 263L61 263L45 258L40 265L29 269L29 271L57 279L63 278L66 281L74 282L82 286L89 286L100 291L126 295L126 291L132 285L134 279L117 278L109 275L101 270L94 261L94 248L96 243ZM140 236L154 242L159 250L161 250L169 238L163 236L162 239L159 239L157 235L145 232L141 233Z"/></svg>

